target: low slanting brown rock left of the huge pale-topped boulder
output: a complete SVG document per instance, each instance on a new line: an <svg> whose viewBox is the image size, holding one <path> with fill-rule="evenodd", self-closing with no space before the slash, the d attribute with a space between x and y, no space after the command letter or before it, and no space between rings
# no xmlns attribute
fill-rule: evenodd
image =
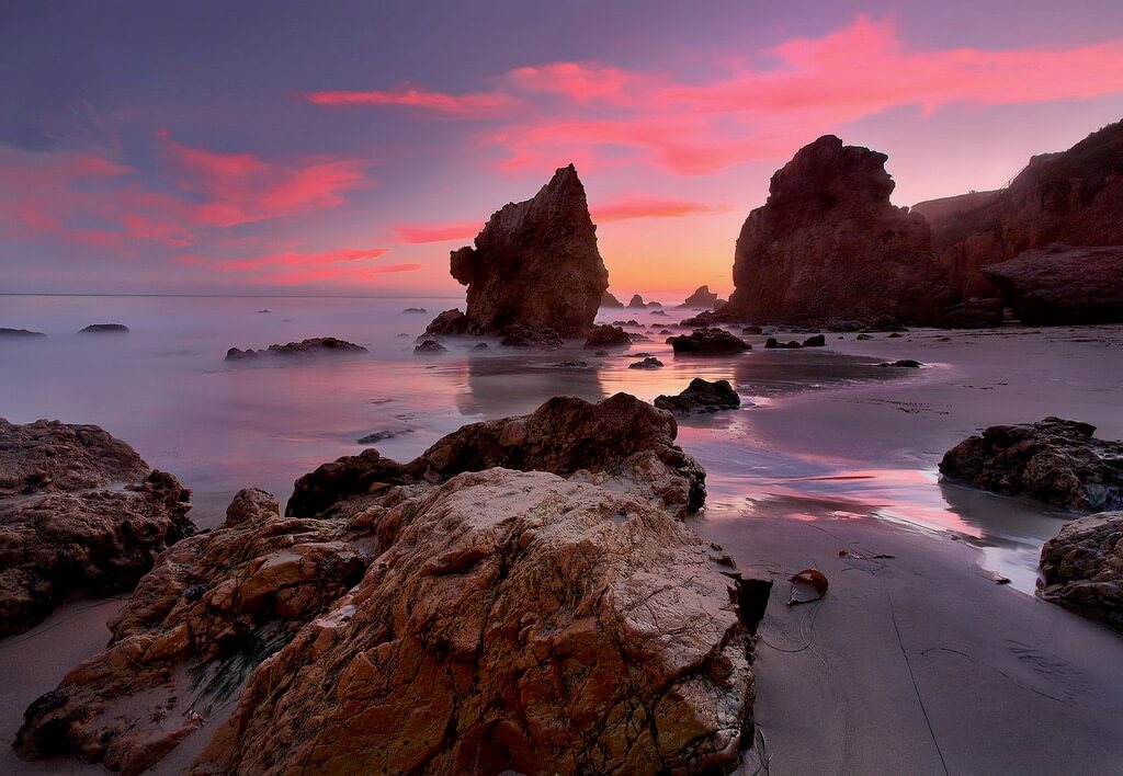
<svg viewBox="0 0 1123 776"><path fill-rule="evenodd" d="M106 650L31 704L17 751L133 774L155 765L358 582L375 546L338 521L282 520L272 495L241 491L222 528L159 556Z"/></svg>

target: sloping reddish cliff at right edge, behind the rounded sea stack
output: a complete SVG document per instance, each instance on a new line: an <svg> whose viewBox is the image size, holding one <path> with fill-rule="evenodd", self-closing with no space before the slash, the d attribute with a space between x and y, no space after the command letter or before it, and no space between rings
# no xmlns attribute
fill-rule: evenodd
<svg viewBox="0 0 1123 776"><path fill-rule="evenodd" d="M921 202L952 285L964 299L993 296L979 267L1053 243L1123 245L1123 122L1066 152L1043 154L997 192ZM1075 282L1084 272L1074 273Z"/></svg>

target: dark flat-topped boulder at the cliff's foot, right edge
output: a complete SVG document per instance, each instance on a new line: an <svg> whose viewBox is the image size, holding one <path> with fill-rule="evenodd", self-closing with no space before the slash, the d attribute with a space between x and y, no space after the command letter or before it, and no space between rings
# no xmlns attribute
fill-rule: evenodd
<svg viewBox="0 0 1123 776"><path fill-rule="evenodd" d="M1023 323L1123 322L1123 246L1028 250L982 272Z"/></svg>

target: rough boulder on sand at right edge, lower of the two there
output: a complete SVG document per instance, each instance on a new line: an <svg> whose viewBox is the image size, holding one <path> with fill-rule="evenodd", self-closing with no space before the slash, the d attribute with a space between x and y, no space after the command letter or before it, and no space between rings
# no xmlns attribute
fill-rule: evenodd
<svg viewBox="0 0 1123 776"><path fill-rule="evenodd" d="M1065 523L1041 548L1038 595L1123 631L1123 512Z"/></svg>

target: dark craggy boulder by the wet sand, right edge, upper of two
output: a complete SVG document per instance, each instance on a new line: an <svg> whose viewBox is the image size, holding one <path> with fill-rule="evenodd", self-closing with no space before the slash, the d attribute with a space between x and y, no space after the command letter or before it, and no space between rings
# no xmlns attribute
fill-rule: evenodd
<svg viewBox="0 0 1123 776"><path fill-rule="evenodd" d="M1061 418L992 426L944 454L940 472L996 493L1083 512L1123 509L1123 442Z"/></svg>

